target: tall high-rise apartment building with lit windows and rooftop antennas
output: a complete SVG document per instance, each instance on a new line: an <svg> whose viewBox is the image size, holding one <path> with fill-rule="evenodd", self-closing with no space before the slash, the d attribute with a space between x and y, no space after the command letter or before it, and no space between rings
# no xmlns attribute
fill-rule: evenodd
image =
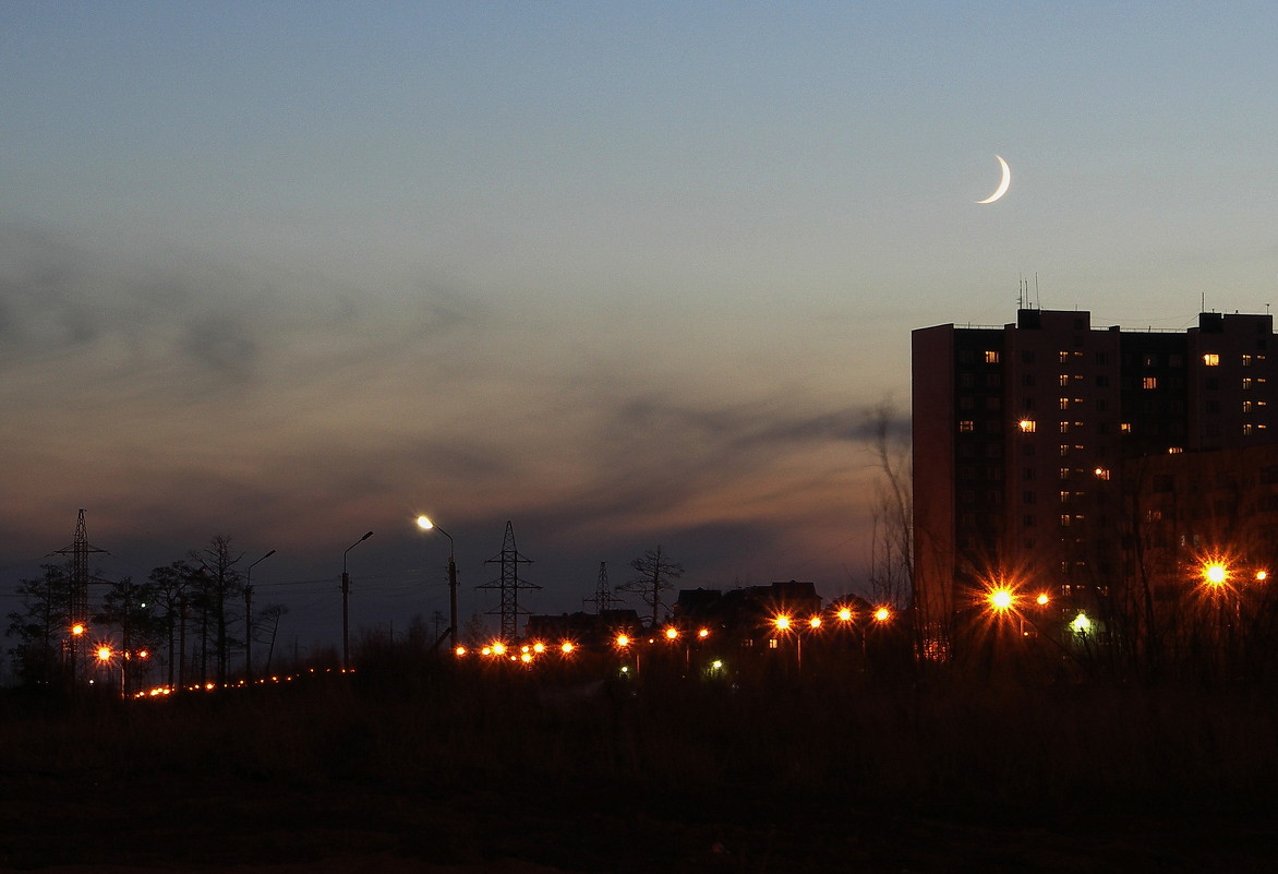
<svg viewBox="0 0 1278 874"><path fill-rule="evenodd" d="M942 639L999 580L1082 605L1123 585L1141 459L1278 441L1270 315L1093 328L1020 310L912 334L915 605Z"/></svg>

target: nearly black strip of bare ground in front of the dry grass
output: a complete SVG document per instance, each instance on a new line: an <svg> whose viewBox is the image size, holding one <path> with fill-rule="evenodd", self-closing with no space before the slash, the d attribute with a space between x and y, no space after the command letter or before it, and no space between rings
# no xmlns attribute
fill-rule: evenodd
<svg viewBox="0 0 1278 874"><path fill-rule="evenodd" d="M50 873L1122 871L1278 870L1278 829L1140 816L997 824L783 799L511 797L210 779L6 781L0 866ZM967 816L979 820L979 816Z"/></svg>

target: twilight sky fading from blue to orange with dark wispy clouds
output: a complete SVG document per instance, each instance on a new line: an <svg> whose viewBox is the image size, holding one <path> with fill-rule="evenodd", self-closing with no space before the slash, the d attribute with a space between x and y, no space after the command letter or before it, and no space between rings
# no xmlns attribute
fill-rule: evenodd
<svg viewBox="0 0 1278 874"><path fill-rule="evenodd" d="M281 633L869 564L910 330L1278 292L1272 3L0 0L0 608L215 534ZM1007 196L994 155L1012 169ZM635 607L640 607L635 604ZM495 617L491 617L493 627Z"/></svg>

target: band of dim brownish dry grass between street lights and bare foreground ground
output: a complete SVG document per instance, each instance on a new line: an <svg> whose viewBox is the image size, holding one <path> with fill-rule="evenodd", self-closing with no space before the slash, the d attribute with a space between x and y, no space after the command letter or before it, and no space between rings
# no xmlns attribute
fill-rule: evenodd
<svg viewBox="0 0 1278 874"><path fill-rule="evenodd" d="M12 699L0 774L10 786L89 781L187 793L537 797L573 816L608 810L745 833L852 816L1006 828L1111 815L1259 822L1274 813L1278 784L1272 691L961 679L592 685L452 673L382 654L353 678L249 692Z"/></svg>

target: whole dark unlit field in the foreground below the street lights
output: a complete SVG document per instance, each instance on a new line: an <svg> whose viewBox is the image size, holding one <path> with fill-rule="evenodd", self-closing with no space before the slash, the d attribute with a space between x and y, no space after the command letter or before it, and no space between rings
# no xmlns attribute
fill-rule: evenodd
<svg viewBox="0 0 1278 874"><path fill-rule="evenodd" d="M0 866L1273 871L1268 687L449 673L12 695Z"/></svg>

